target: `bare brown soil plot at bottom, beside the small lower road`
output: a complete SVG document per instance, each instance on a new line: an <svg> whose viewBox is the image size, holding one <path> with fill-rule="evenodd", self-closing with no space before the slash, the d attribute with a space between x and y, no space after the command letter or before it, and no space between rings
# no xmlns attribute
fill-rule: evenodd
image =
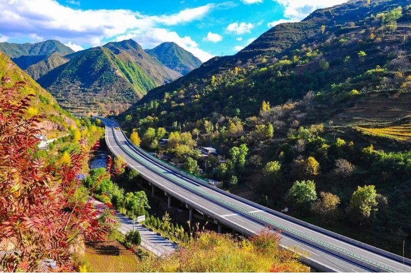
<svg viewBox="0 0 411 273"><path fill-rule="evenodd" d="M95 272L136 272L137 256L117 241L88 243L85 259Z"/></svg>

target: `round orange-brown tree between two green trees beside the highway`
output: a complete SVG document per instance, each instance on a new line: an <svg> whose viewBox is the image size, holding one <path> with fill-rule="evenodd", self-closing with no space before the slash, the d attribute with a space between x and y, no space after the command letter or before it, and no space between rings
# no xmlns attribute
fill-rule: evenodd
<svg viewBox="0 0 411 273"><path fill-rule="evenodd" d="M329 192L320 192L320 196L321 198L312 205L311 210L320 214L323 220L329 224L330 220L337 217L340 197Z"/></svg>

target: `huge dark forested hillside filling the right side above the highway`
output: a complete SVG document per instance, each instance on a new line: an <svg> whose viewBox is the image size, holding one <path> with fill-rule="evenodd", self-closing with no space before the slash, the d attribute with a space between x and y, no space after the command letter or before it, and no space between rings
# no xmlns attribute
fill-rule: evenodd
<svg viewBox="0 0 411 273"><path fill-rule="evenodd" d="M402 254L411 232L410 26L405 0L317 10L153 89L122 125L219 187ZM199 147L220 157L206 165Z"/></svg>

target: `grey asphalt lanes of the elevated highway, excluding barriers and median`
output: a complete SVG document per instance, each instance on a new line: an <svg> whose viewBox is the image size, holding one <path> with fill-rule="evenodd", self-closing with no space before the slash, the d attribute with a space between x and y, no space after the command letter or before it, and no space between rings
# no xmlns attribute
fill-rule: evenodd
<svg viewBox="0 0 411 273"><path fill-rule="evenodd" d="M352 244L343 242L339 239L333 238L329 235L323 234L321 232L315 231L313 229L301 226L297 223L291 222L289 220L283 219L277 215L271 214L267 211L262 211L257 207L253 207L248 205L244 202L239 201L233 197L227 196L223 193L220 193L212 188L206 187L197 183L196 181L182 176L178 173L175 173L173 170L163 167L160 163L158 163L153 157L148 156L147 154L135 149L134 146L129 143L129 140L123 135L123 133L119 130L115 130L115 127L118 124L105 120L108 123L106 126L106 142L108 148L111 152L115 155L122 155L125 157L126 162L128 163L128 167L138 170L140 174L143 176L156 181L157 184L161 185L169 193L173 193L176 196L179 196L181 200L191 201L194 204L199 205L202 208L202 212L205 212L207 215L218 215L223 217L224 219L228 220L230 223L230 227L235 228L238 231L251 231L253 233L257 233L260 230L264 229L265 224L259 223L255 220L250 219L247 215L242 215L240 213L235 212L229 206L223 206L217 202L210 200L207 196L203 194L188 190L181 185L179 185L178 181L183 181L185 183L189 183L190 185L200 189L203 192L211 194L215 197L221 198L231 204L234 204L244 210L249 212L253 212L254 214L264 216L267 219L270 219L273 222L286 226L288 228L292 228L301 234L308 235L316 240L320 240L325 242L331 246L338 247L340 249L344 249L345 251L351 252L356 254L357 256L361 256L367 260L377 262L382 266L386 266L387 268L391 268L397 272L410 272L411 267L408 265L403 265L402 263L395 261L393 259L381 256L381 254L371 252L364 248L354 246ZM116 139L117 141L116 141ZM120 143L120 145L118 144ZM121 147L120 147L121 146ZM128 151L125 152L125 150ZM142 164L138 160L136 160L133 156L137 156L140 160L144 163ZM161 173L171 176L173 179L167 178L166 176L160 175L158 172L154 171L152 168L155 167L157 170L160 170ZM247 233L249 233L247 232ZM307 244L301 241L297 235L289 236L282 234L282 245L288 246L290 248L298 248L308 254L309 259L320 264L327 266L328 268L338 271L338 272L370 272L372 271L372 267L364 267L357 263L350 262L345 260L341 257L334 256L329 252L326 252L322 249L319 249L315 246L315 244Z"/></svg>

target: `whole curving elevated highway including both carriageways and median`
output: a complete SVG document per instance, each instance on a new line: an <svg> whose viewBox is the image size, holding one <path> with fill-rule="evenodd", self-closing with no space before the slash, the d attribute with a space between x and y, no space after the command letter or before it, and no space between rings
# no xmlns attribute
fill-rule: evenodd
<svg viewBox="0 0 411 273"><path fill-rule="evenodd" d="M333 272L411 272L410 264L403 264L398 257L396 260L348 243L201 184L135 147L118 130L116 122L102 121L106 125L105 139L111 153L124 156L129 168L139 171L156 187L230 228L246 235L258 233L266 225L282 230L282 245L308 254L304 260L312 262L316 269Z"/></svg>

